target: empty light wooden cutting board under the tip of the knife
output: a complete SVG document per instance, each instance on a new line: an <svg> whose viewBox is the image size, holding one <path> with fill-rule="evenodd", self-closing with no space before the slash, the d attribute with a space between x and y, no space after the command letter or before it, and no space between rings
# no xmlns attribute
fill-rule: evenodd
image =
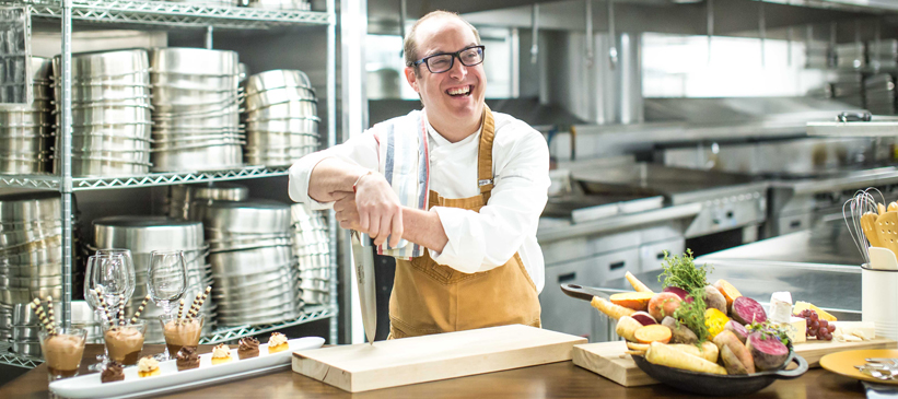
<svg viewBox="0 0 898 399"><path fill-rule="evenodd" d="M571 360L585 338L502 326L293 353L293 371L350 392Z"/></svg>

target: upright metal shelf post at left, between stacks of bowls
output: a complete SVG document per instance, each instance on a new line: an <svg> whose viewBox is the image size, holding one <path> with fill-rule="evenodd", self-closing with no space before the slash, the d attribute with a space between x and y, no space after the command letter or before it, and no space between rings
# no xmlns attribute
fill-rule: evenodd
<svg viewBox="0 0 898 399"><path fill-rule="evenodd" d="M57 156L61 155L59 191L62 196L62 303L59 320L69 327L72 320L72 0L62 0L62 115Z"/></svg>

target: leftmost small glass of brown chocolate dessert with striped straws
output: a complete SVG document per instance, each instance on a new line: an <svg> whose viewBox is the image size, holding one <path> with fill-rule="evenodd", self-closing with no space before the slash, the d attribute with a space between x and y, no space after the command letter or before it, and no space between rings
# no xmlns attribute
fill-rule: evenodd
<svg viewBox="0 0 898 399"><path fill-rule="evenodd" d="M81 366L81 357L84 354L88 330L57 326L55 335L42 329L38 337L40 337L40 351L47 362L49 380L77 376L78 368Z"/></svg>

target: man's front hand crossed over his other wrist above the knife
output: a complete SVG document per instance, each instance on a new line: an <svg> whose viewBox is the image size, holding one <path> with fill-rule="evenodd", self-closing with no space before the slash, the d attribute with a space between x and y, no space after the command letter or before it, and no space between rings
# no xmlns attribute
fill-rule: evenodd
<svg viewBox="0 0 898 399"><path fill-rule="evenodd" d="M354 207L351 207L352 202ZM390 235L390 245L399 245L403 238L403 204L383 176L362 176L355 185L355 193L337 200L334 203L335 211L338 211L338 204L347 224L353 225L358 218L357 230L374 238L374 245L382 245ZM355 209L357 214L349 211L351 208ZM342 226L342 219L338 220Z"/></svg>

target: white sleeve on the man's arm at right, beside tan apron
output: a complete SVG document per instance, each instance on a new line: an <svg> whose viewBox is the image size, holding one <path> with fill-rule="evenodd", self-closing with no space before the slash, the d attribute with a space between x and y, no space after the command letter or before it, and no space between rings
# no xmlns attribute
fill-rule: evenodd
<svg viewBox="0 0 898 399"><path fill-rule="evenodd" d="M448 243L431 250L440 265L464 273L502 266L528 236L536 236L549 188L549 151L534 131L512 148L510 162L497 171L489 202L480 212L434 207Z"/></svg>

